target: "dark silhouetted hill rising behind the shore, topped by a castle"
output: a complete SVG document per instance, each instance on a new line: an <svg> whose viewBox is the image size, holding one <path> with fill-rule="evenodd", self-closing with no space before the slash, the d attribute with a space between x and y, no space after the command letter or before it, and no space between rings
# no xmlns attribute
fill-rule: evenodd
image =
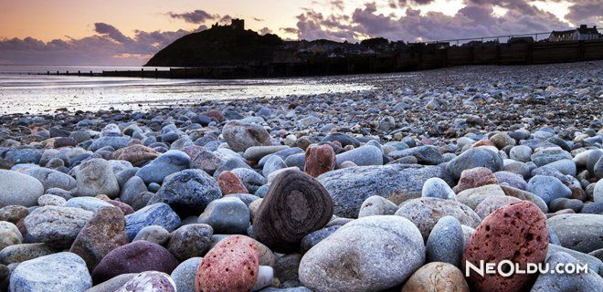
<svg viewBox="0 0 603 292"><path fill-rule="evenodd" d="M213 26L186 35L164 47L145 66L202 67L232 66L270 61L282 46L279 36L260 36L252 30Z"/></svg>

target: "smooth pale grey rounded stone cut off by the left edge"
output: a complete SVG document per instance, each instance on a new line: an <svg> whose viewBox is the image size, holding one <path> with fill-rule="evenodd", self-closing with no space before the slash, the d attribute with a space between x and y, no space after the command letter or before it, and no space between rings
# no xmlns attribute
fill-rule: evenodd
<svg viewBox="0 0 603 292"><path fill-rule="evenodd" d="M44 194L44 185L37 179L13 171L0 170L0 207L37 205L37 198Z"/></svg>

